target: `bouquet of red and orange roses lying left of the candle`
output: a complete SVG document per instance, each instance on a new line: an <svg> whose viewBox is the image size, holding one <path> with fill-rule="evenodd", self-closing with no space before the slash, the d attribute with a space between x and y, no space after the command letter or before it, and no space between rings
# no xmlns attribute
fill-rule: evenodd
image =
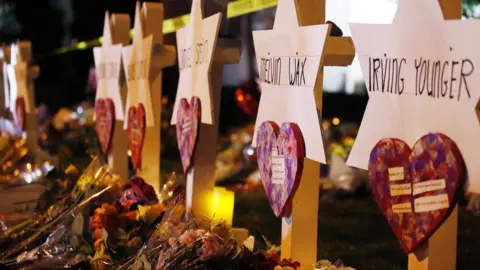
<svg viewBox="0 0 480 270"><path fill-rule="evenodd" d="M135 257L155 231L165 205L183 197L183 190L173 174L159 200L151 185L133 177L113 203L103 204L90 218L95 248L92 268L116 268Z"/></svg>

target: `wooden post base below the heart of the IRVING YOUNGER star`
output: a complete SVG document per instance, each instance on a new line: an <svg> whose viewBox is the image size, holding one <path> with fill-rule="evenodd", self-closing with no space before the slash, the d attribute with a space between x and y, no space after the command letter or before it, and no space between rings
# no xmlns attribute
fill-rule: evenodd
<svg viewBox="0 0 480 270"><path fill-rule="evenodd" d="M408 254L408 270L454 270L457 260L458 205L430 239Z"/></svg>

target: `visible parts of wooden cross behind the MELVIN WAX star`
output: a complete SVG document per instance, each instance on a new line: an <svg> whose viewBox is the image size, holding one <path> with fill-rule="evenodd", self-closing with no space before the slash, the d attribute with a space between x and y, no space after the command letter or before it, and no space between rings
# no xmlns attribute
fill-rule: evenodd
<svg viewBox="0 0 480 270"><path fill-rule="evenodd" d="M325 0L296 0L296 5L300 26L325 23ZM354 57L355 48L350 37L327 37L314 88L319 119L323 67L348 66ZM292 201L292 215L282 219L282 258L300 262L300 269L312 269L317 261L319 188L320 163L305 159L300 186Z"/></svg>

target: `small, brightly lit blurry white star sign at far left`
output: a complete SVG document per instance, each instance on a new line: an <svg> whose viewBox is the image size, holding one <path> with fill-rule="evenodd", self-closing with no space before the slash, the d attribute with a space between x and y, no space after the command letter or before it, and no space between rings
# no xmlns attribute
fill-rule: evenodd
<svg viewBox="0 0 480 270"><path fill-rule="evenodd" d="M12 44L11 61L7 65L7 77L10 90L10 110L15 113L15 102L17 98L23 97L25 100L25 111L30 113L30 99L27 89L28 64L23 60L21 50L17 44Z"/></svg>

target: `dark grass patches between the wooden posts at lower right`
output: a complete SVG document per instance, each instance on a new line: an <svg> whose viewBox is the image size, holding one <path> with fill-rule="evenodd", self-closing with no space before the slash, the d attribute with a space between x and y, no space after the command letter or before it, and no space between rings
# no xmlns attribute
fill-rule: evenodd
<svg viewBox="0 0 480 270"><path fill-rule="evenodd" d="M280 244L281 223L263 190L235 195L234 227L246 228L251 234L264 235ZM342 259L356 269L407 269L407 255L390 230L373 197L321 197L318 217L317 257ZM308 221L306 221L308 222ZM480 217L459 211L457 269L477 270L480 265ZM439 269L441 270L441 269Z"/></svg>

